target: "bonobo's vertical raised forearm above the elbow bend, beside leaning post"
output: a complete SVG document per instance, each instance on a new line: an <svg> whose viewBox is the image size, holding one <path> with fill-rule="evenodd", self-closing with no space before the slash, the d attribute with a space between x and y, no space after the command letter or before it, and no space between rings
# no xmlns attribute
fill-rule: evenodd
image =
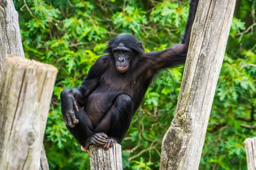
<svg viewBox="0 0 256 170"><path fill-rule="evenodd" d="M186 24L186 31L185 31L184 37L181 41L181 44L185 44L187 46L187 48L189 46L191 28L192 28L192 25L195 20L195 14L196 14L196 10L198 7L198 1L199 0L190 0L190 3L189 3L189 17L188 17L188 21Z"/></svg>

